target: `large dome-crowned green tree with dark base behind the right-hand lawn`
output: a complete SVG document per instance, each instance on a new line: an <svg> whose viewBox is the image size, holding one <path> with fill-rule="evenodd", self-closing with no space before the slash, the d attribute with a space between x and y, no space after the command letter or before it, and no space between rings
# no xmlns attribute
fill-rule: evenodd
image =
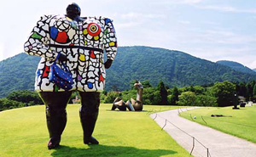
<svg viewBox="0 0 256 157"><path fill-rule="evenodd" d="M212 96L217 98L218 107L233 105L235 91L236 85L230 81L216 82L211 87Z"/></svg>

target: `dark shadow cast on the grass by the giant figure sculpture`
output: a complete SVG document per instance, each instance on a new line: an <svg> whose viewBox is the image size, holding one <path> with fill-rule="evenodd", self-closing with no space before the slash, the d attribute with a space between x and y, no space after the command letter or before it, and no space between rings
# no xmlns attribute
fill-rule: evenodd
<svg viewBox="0 0 256 157"><path fill-rule="evenodd" d="M160 157L166 154L177 154L176 151L165 149L137 149L124 146L90 145L90 148L78 149L68 146L60 146L51 155L54 157L106 157L106 156L145 156Z"/></svg>

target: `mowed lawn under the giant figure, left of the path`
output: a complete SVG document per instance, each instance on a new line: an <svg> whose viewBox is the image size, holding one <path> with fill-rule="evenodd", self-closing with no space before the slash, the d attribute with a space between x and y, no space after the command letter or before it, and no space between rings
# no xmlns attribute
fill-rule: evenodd
<svg viewBox="0 0 256 157"><path fill-rule="evenodd" d="M84 145L79 121L79 104L67 106L67 126L61 147L47 149L49 134L44 105L0 112L0 157L106 157L106 156L189 156L149 116L150 112L175 109L170 106L144 106L142 112L110 111L101 104L93 134L99 145Z"/></svg>

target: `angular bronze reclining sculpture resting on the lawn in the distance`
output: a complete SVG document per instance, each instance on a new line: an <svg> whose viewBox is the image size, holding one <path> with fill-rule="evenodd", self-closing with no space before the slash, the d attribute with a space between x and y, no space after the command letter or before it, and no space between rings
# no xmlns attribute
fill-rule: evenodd
<svg viewBox="0 0 256 157"><path fill-rule="evenodd" d="M131 98L131 102L128 100L126 103L121 98L115 98L111 110L118 108L125 111L126 108L130 111L142 111L143 110L143 85L140 81L135 81L134 84L137 87L137 99Z"/></svg>

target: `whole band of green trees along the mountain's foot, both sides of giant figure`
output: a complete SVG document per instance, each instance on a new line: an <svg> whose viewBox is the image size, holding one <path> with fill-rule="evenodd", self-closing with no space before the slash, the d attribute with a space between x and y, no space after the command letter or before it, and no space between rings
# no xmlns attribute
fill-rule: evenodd
<svg viewBox="0 0 256 157"><path fill-rule="evenodd" d="M131 81L131 89L123 92L103 91L101 103L112 104L117 97L124 101L137 98L137 90L133 87L135 81ZM173 87L165 85L163 81L153 87L148 80L143 84L143 104L154 105L185 105L185 106L230 106L234 105L235 94L243 96L246 101L256 101L256 81L244 82L216 82L208 86ZM71 101L77 96L73 93ZM9 93L6 98L0 98L0 111L14 109L35 104L44 104L38 93L29 90L20 90Z"/></svg>

